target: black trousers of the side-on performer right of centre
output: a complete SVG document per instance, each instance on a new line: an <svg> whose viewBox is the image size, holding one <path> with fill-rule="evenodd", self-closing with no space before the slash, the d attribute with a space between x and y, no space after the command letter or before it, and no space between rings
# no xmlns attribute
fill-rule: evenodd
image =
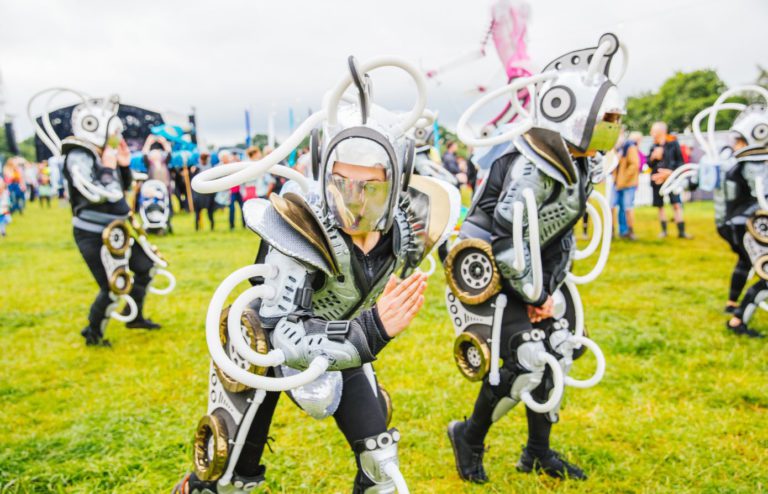
<svg viewBox="0 0 768 494"><path fill-rule="evenodd" d="M488 376L483 379L480 387L480 393L475 400L475 407L472 415L467 421L465 429L465 439L473 446L482 446L485 436L493 424L493 410L499 401L509 396L512 382L519 374L518 365L515 358L517 347L513 347L512 339L517 334L532 329L530 319L528 318L528 307L516 297L508 297L507 307L504 310L504 316L501 324L501 347L499 355L504 363L499 369L501 382L498 386L491 386L488 382ZM542 384L533 390L531 395L537 401L546 400L547 378L542 380ZM533 454L544 454L549 449L549 436L552 430L552 423L546 414L536 413L526 407L526 417L528 419L528 449Z"/></svg>

